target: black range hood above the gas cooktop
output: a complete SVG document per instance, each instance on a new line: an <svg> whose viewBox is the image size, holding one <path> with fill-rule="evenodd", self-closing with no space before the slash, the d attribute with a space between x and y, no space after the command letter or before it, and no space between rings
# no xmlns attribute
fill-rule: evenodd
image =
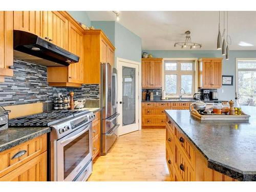
<svg viewBox="0 0 256 192"><path fill-rule="evenodd" d="M35 34L13 30L14 58L34 62L43 66L69 66L79 57Z"/></svg>

